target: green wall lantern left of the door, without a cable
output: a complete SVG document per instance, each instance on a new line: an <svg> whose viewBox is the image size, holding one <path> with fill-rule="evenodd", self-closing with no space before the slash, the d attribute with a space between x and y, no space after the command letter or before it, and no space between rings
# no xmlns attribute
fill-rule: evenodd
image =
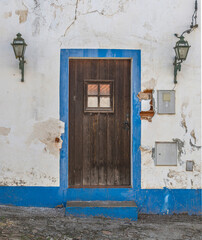
<svg viewBox="0 0 202 240"><path fill-rule="evenodd" d="M25 43L25 40L22 38L22 35L20 33L17 34L17 38L13 39L13 43L11 43L13 46L13 50L15 53L15 57L19 59L19 68L21 69L21 82L24 82L24 54L27 44Z"/></svg>

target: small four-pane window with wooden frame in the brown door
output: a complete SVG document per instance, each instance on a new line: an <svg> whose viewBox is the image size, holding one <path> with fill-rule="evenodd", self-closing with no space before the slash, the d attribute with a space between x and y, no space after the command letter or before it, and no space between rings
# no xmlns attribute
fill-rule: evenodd
<svg viewBox="0 0 202 240"><path fill-rule="evenodd" d="M84 112L113 112L112 80L85 80Z"/></svg>

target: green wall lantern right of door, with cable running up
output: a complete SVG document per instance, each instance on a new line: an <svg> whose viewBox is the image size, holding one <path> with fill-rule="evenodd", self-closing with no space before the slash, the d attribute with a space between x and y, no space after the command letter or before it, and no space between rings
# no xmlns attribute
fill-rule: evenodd
<svg viewBox="0 0 202 240"><path fill-rule="evenodd" d="M189 43L187 41L184 40L184 34L185 33L191 33L195 28L198 27L198 24L196 23L197 20L197 10L198 10L198 6L197 6L197 0L195 0L195 10L194 10L194 14L192 15L192 22L190 25L190 29L184 31L180 37L178 36L178 34L175 34L175 36L177 38L179 38L180 40L178 42L176 42L176 45L174 47L175 50L175 60L174 60L174 83L177 83L177 71L181 71L181 63L183 61L186 60L188 52L189 52L189 48L191 47L189 45Z"/></svg>

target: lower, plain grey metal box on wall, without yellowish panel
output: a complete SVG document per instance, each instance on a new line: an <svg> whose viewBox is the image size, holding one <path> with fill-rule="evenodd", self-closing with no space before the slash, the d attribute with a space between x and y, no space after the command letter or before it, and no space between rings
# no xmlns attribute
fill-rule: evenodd
<svg viewBox="0 0 202 240"><path fill-rule="evenodd" d="M156 142L155 143L155 165L176 166L177 165L177 143Z"/></svg>

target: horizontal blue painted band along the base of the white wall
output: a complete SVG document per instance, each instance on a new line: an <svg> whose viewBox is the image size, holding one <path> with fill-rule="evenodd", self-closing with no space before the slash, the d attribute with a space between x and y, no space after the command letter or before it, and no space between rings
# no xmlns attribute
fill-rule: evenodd
<svg viewBox="0 0 202 240"><path fill-rule="evenodd" d="M69 189L70 190L70 189ZM88 189L80 189L74 195L61 187L0 187L0 204L26 207L55 207L66 201L135 201L139 213L146 214L201 214L201 189L113 189L113 199L107 189L95 189L91 199Z"/></svg>

